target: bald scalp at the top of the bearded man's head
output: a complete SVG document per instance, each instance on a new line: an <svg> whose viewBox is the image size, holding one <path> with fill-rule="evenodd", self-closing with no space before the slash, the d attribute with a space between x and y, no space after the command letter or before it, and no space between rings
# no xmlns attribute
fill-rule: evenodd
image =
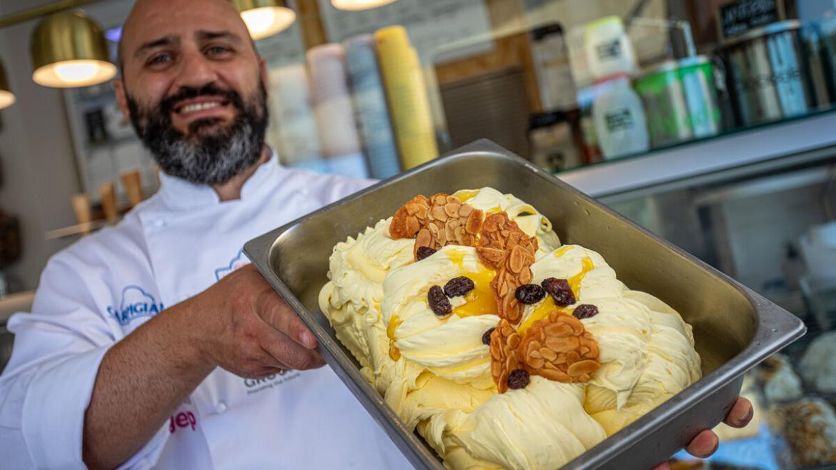
<svg viewBox="0 0 836 470"><path fill-rule="evenodd" d="M135 46L137 31L153 28L155 18L170 17L172 13L208 13L215 18L228 18L230 25L242 36L249 38L247 24L241 14L228 0L136 0L133 8L122 26L122 34L117 48L118 66L120 74L125 75L125 54L130 54L129 48ZM149 23L151 22L151 23ZM255 43L250 38L252 50L256 52Z"/></svg>

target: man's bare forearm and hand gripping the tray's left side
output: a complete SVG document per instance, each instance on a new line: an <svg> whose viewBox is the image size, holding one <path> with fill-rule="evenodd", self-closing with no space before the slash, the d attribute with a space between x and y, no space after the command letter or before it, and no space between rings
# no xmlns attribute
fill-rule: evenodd
<svg viewBox="0 0 836 470"><path fill-rule="evenodd" d="M247 378L324 365L316 340L252 265L136 328L104 355L84 415L84 463L135 454L216 367ZM141 360L137 360L141 358Z"/></svg>

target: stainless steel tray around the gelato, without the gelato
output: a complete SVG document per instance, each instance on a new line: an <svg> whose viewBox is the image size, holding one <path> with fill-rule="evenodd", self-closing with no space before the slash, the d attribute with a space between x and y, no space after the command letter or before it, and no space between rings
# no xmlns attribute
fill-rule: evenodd
<svg viewBox="0 0 836 470"><path fill-rule="evenodd" d="M248 242L247 257L314 332L328 364L416 468L441 460L409 432L359 374L319 312L336 243L390 217L415 194L492 186L538 208L563 243L604 256L631 289L654 294L694 327L703 378L564 468L650 468L716 426L740 392L742 374L805 332L775 304L655 237L572 186L489 140L468 146L335 202Z"/></svg>

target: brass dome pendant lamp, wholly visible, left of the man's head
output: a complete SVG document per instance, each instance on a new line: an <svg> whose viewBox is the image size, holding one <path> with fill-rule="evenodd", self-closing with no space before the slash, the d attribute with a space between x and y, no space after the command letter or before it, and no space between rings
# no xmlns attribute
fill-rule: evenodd
<svg viewBox="0 0 836 470"><path fill-rule="evenodd" d="M80 10L43 18L30 46L37 84L74 88L104 83L116 75L102 28Z"/></svg>

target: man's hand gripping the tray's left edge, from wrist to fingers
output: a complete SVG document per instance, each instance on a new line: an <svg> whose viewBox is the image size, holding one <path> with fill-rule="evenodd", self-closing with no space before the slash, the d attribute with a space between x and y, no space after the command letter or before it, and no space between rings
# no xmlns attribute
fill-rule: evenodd
<svg viewBox="0 0 836 470"><path fill-rule="evenodd" d="M259 378L278 370L323 366L302 320L248 264L190 299L201 322L196 345L212 365Z"/></svg>

